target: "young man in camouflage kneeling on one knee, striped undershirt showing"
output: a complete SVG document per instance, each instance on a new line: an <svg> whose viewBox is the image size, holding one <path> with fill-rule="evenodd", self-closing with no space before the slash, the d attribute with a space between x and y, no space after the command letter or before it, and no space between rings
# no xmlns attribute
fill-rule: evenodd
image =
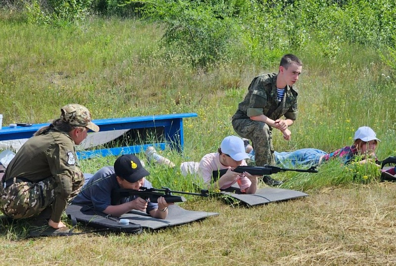
<svg viewBox="0 0 396 266"><path fill-rule="evenodd" d="M293 85L301 74L302 63L293 54L282 57L278 74L253 79L245 99L232 117L234 130L251 140L256 166L275 165L272 129L290 140L289 127L297 118L297 90ZM285 116L285 119L280 119Z"/></svg>

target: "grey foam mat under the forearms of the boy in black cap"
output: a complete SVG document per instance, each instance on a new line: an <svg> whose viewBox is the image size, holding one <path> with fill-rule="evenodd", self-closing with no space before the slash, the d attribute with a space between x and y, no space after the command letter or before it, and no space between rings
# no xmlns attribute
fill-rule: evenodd
<svg viewBox="0 0 396 266"><path fill-rule="evenodd" d="M178 225L188 222L198 221L207 217L217 216L218 213L188 211L178 205L168 207L168 216L166 219L156 219L148 216L146 213L131 211L122 215L120 218L129 219L133 223L140 224L143 228L158 229L161 227Z"/></svg>

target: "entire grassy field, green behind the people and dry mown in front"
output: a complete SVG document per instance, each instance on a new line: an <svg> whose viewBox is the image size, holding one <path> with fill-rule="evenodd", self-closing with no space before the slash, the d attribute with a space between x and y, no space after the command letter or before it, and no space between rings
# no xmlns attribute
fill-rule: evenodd
<svg viewBox="0 0 396 266"><path fill-rule="evenodd" d="M46 122L71 102L87 106L94 119L196 112L198 118L185 121L184 153L162 154L176 165L199 161L235 134L231 116L250 81L276 72L277 64L244 61L193 69L162 57L161 32L141 21L100 18L78 29L54 29L2 14L3 125ZM345 44L329 60L318 50L312 40L297 53L304 63L297 84L299 117L290 142L274 134L276 150L332 151L350 145L358 127L369 126L382 140L378 157L395 155L395 81L377 52ZM114 160L81 164L94 173ZM154 186L191 189L177 169L148 165L148 170ZM285 188L309 197L255 208L188 197L183 208L220 215L141 235L28 239L25 222L2 221L0 265L395 265L396 185L377 182L375 173L335 162L318 174L277 174Z"/></svg>

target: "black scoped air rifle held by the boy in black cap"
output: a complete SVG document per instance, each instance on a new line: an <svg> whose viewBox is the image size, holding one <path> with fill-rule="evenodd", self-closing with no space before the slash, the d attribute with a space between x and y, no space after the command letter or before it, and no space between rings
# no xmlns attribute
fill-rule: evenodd
<svg viewBox="0 0 396 266"><path fill-rule="evenodd" d="M164 192L164 193L161 193ZM201 193L191 193L191 192L184 192L184 191L174 191L170 190L167 187L161 188L147 188L141 186L139 190L136 189L126 189L126 188L118 188L113 189L111 191L111 205L117 205L120 203L121 198L127 198L130 196L138 196L145 200L149 200L150 202L157 203L159 197L164 197L167 203L172 202L184 202L186 199L182 196L174 196L172 193L177 194L187 194L187 195L195 195L201 197L207 197L209 191L206 189L201 189Z"/></svg>

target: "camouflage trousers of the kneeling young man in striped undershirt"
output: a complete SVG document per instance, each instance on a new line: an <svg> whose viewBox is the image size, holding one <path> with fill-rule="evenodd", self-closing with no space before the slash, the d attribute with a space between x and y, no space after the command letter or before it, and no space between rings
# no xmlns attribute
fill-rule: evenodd
<svg viewBox="0 0 396 266"><path fill-rule="evenodd" d="M264 122L251 119L234 119L232 126L240 136L251 140L256 166L275 165L272 128Z"/></svg>

